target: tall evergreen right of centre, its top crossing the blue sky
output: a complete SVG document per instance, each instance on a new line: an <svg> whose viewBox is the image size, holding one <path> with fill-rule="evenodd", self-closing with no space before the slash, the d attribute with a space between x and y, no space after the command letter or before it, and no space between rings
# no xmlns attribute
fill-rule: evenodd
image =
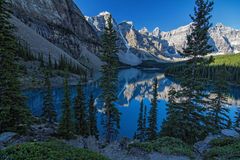
<svg viewBox="0 0 240 160"><path fill-rule="evenodd" d="M194 143L207 134L204 112L208 105L209 94L205 92L207 82L199 78L197 71L209 63L203 58L210 53L208 29L213 2L196 0L192 32L187 36L186 56L191 57L187 66L179 75L181 89L170 92L168 117L162 129L165 136L180 138L187 143Z"/></svg>

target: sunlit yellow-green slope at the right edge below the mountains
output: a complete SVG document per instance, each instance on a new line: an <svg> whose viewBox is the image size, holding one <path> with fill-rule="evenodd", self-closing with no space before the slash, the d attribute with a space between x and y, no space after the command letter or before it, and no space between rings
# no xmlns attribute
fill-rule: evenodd
<svg viewBox="0 0 240 160"><path fill-rule="evenodd" d="M226 65L240 67L240 53L214 56L214 62L211 65Z"/></svg>

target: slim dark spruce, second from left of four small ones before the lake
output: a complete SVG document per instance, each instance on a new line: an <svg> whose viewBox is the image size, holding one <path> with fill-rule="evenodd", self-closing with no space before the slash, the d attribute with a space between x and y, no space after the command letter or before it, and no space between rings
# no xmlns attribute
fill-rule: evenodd
<svg viewBox="0 0 240 160"><path fill-rule="evenodd" d="M58 134L66 139L72 138L73 136L73 122L71 114L71 102L70 102L70 90L68 86L67 76L64 80L64 100L62 103L63 115L59 124Z"/></svg>

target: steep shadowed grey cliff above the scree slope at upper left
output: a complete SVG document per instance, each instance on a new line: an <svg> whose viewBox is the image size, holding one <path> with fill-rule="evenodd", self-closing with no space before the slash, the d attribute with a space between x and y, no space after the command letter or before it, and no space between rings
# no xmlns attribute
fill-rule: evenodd
<svg viewBox="0 0 240 160"><path fill-rule="evenodd" d="M98 53L99 37L72 0L9 1L17 19L79 63L92 67L91 56Z"/></svg>

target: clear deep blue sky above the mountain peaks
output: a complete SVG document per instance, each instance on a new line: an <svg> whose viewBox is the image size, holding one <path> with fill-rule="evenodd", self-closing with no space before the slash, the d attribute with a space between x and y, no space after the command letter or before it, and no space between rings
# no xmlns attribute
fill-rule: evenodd
<svg viewBox="0 0 240 160"><path fill-rule="evenodd" d="M188 24L195 0L74 0L84 15L102 11L112 13L116 21L130 20L136 29L149 31L160 27L169 31ZM212 22L240 29L240 0L214 0Z"/></svg>

